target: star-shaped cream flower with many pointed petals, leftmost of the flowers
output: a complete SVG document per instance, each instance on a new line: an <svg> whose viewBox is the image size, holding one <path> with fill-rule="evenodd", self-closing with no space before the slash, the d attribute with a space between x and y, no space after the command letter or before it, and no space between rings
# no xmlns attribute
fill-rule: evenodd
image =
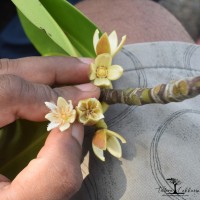
<svg viewBox="0 0 200 200"><path fill-rule="evenodd" d="M64 131L70 127L76 119L76 110L73 109L72 101L68 102L58 97L57 105L51 102L45 102L46 106L51 110L50 113L45 115L45 118L50 121L47 131L59 127L60 131Z"/></svg>

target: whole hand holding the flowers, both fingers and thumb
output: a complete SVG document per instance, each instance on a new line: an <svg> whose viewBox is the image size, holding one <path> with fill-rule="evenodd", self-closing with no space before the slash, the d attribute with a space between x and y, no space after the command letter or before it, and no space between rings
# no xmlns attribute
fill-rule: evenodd
<svg viewBox="0 0 200 200"><path fill-rule="evenodd" d="M18 118L44 121L49 112L44 102L56 102L59 96L74 105L81 99L98 98L99 89L88 83L90 62L68 57L0 60L0 127ZM52 130L37 158L12 182L0 175L0 199L70 199L82 183L83 134L78 122L63 133Z"/></svg>

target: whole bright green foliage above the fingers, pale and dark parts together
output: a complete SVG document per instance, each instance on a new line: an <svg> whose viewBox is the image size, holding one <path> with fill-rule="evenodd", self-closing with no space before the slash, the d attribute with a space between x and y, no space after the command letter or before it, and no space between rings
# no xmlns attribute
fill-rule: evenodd
<svg viewBox="0 0 200 200"><path fill-rule="evenodd" d="M95 57L96 25L66 0L12 1L27 36L42 55Z"/></svg>

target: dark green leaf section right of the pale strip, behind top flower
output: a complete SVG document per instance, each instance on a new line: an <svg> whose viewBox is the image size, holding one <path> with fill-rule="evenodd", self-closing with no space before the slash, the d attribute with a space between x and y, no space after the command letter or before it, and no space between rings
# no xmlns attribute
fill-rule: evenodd
<svg viewBox="0 0 200 200"><path fill-rule="evenodd" d="M66 0L40 0L82 56L95 57L93 35L97 26Z"/></svg>

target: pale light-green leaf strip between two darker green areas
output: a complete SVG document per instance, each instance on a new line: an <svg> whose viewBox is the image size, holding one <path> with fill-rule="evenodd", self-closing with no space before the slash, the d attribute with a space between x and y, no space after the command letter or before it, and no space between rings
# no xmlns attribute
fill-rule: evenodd
<svg viewBox="0 0 200 200"><path fill-rule="evenodd" d="M32 24L45 32L65 52L71 56L79 56L65 33L39 0L12 0L12 2Z"/></svg>

